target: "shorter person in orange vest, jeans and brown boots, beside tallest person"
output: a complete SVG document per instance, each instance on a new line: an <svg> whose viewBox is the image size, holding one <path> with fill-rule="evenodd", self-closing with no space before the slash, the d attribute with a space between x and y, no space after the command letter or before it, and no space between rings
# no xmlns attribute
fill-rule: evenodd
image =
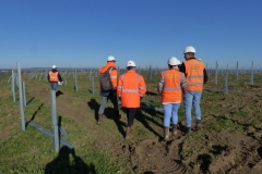
<svg viewBox="0 0 262 174"><path fill-rule="evenodd" d="M169 139L170 119L172 120L171 133L177 134L178 109L182 100L182 89L187 86L184 74L179 71L181 62L171 57L167 64L168 70L160 73L157 88L158 94L162 95L164 108L164 140Z"/></svg>

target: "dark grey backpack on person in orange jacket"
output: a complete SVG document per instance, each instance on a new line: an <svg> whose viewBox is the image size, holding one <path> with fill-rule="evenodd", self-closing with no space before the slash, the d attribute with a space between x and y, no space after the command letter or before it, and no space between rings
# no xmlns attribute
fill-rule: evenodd
<svg viewBox="0 0 262 174"><path fill-rule="evenodd" d="M116 69L115 67L108 67L106 72L100 74L100 89L102 89L102 91L109 91L114 88L112 83L111 83L111 78L110 78L110 72L112 70L116 70Z"/></svg>

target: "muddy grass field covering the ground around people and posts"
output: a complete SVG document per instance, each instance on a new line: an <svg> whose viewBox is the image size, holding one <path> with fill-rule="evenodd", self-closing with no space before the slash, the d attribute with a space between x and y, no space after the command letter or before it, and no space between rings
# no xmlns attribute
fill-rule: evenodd
<svg viewBox="0 0 262 174"><path fill-rule="evenodd" d="M143 74L143 73L142 73ZM143 74L147 95L142 101L150 108L162 108L156 94L158 75ZM183 105L179 109L179 133L163 141L163 112L140 109L132 138L124 140L126 113L116 120L108 102L104 122L96 124L100 103L98 77L95 94L87 74L78 76L78 89L71 76L58 87L57 114L74 150L61 147L59 153L49 137L27 124L22 132L19 102L13 102L10 75L0 76L0 173L258 173L262 163L262 88L229 76L229 92L204 90L202 96L203 128L184 134ZM261 83L261 75L254 80ZM23 74L26 84L24 107L26 122L34 121L51 130L50 87L43 78ZM223 89L210 77L205 89ZM19 94L16 90L16 99ZM192 119L194 125L194 119ZM50 170L51 169L51 170Z"/></svg>

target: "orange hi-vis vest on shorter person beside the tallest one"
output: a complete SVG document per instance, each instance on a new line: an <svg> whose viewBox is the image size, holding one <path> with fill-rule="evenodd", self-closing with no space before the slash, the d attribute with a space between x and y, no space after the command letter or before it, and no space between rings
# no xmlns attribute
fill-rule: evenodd
<svg viewBox="0 0 262 174"><path fill-rule="evenodd" d="M162 72L162 79L164 79L164 87L162 91L162 103L181 102L182 90L181 83L184 80L183 73L171 69Z"/></svg>

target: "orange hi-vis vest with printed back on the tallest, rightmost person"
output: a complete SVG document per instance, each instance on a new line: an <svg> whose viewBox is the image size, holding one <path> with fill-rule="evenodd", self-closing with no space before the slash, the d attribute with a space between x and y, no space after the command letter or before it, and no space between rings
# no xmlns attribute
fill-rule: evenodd
<svg viewBox="0 0 262 174"><path fill-rule="evenodd" d="M190 59L183 62L186 66L187 88L189 91L202 91L204 84L204 63L196 59Z"/></svg>

